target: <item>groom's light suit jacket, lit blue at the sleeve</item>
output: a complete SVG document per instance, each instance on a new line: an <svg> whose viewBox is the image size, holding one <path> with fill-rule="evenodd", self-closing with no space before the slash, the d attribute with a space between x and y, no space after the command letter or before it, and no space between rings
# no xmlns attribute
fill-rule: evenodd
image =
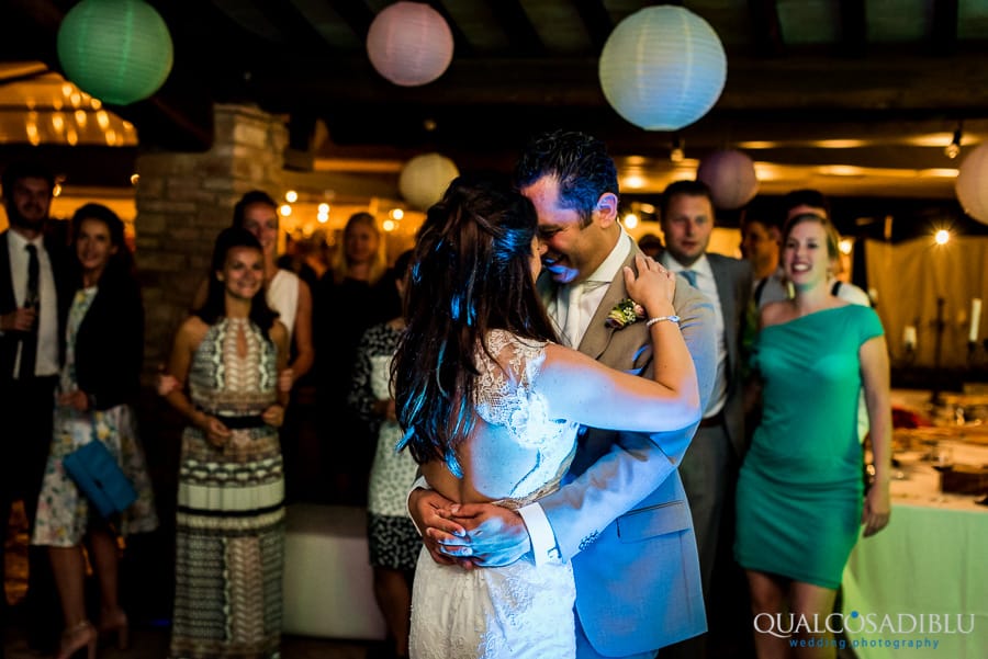
<svg viewBox="0 0 988 659"><path fill-rule="evenodd" d="M632 250L627 265L633 268ZM539 281L552 295L551 281ZM615 330L605 319L628 297L618 271L580 343L602 364L652 375L644 322ZM717 367L714 308L678 277L673 300L696 364L701 408ZM653 650L706 630L693 521L676 465L697 425L652 435L581 429L559 491L539 500L576 576L576 615L605 656ZM672 462L671 462L672 461Z"/></svg>

